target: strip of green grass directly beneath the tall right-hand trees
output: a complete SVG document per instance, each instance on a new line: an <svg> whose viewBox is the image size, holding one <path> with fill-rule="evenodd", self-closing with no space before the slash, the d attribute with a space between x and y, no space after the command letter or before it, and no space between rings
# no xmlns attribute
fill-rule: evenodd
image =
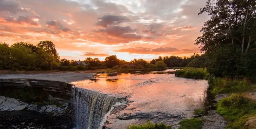
<svg viewBox="0 0 256 129"><path fill-rule="evenodd" d="M209 85L213 87L212 93L240 93L256 88L247 79L215 78Z"/></svg>

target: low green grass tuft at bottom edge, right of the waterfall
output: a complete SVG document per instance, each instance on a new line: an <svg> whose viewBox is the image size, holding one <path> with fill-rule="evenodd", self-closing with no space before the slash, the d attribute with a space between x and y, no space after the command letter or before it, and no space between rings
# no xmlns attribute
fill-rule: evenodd
<svg viewBox="0 0 256 129"><path fill-rule="evenodd" d="M130 125L128 129L170 129L170 126L165 125L164 123L151 123L149 120L145 124L140 125Z"/></svg>

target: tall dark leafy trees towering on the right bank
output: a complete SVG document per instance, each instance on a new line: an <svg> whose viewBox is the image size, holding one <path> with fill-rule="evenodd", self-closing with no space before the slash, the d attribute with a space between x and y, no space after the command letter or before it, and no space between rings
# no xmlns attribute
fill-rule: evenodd
<svg viewBox="0 0 256 129"><path fill-rule="evenodd" d="M201 52L209 55L208 72L217 77L256 77L256 1L208 0L199 14L208 13Z"/></svg>

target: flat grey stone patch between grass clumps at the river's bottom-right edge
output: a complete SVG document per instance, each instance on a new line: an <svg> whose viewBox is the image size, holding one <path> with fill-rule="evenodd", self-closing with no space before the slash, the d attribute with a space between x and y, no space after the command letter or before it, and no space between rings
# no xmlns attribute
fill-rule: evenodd
<svg viewBox="0 0 256 129"><path fill-rule="evenodd" d="M216 110L210 110L207 116L203 116L205 122L203 122L202 129L225 129L227 123L225 119L216 113Z"/></svg>

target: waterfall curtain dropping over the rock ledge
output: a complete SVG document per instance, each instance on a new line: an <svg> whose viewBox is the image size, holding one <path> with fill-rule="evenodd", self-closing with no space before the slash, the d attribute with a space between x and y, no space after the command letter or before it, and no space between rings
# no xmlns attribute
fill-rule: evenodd
<svg viewBox="0 0 256 129"><path fill-rule="evenodd" d="M100 129L117 98L73 87L76 129Z"/></svg>

